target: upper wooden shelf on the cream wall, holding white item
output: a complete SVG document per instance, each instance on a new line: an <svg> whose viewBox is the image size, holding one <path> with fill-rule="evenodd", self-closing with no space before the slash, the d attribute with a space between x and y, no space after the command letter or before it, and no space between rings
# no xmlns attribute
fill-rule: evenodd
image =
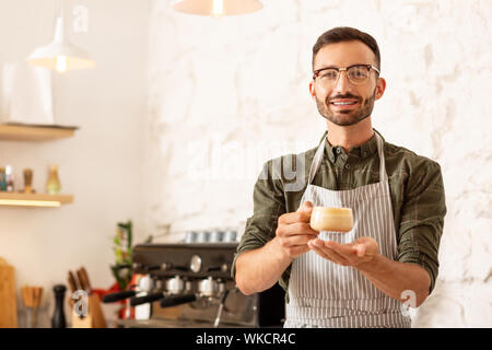
<svg viewBox="0 0 492 350"><path fill-rule="evenodd" d="M78 127L44 126L27 124L0 124L0 140L50 141L71 138Z"/></svg>

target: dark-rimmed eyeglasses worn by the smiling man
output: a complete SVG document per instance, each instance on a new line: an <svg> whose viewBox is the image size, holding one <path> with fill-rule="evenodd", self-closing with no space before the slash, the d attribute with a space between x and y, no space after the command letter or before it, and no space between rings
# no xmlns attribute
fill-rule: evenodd
<svg viewBox="0 0 492 350"><path fill-rule="evenodd" d="M323 85L332 86L337 84L340 72L345 71L347 78L352 84L362 85L367 82L371 69L374 69L379 74L379 70L373 65L354 65L345 68L327 67L315 70L313 80L318 79Z"/></svg>

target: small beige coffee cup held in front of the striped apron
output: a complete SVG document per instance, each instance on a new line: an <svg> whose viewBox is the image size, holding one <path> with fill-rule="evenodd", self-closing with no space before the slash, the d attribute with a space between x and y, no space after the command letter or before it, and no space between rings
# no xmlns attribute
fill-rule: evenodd
<svg viewBox="0 0 492 350"><path fill-rule="evenodd" d="M311 226L315 231L349 232L353 228L352 209L314 207Z"/></svg>

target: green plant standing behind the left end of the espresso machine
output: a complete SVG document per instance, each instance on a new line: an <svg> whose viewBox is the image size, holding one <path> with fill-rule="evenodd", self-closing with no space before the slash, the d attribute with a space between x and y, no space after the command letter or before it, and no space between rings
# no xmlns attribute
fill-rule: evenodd
<svg viewBox="0 0 492 350"><path fill-rule="evenodd" d="M115 252L116 264L110 266L113 276L120 290L126 290L131 281L131 252L132 241L132 223L118 222L116 228L116 235L113 238L113 250Z"/></svg>

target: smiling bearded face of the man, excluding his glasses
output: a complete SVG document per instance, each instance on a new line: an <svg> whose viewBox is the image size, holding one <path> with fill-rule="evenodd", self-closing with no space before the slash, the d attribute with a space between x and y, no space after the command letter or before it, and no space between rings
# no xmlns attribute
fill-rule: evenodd
<svg viewBox="0 0 492 350"><path fill-rule="evenodd" d="M353 65L377 67L374 52L359 40L324 46L315 57L314 70ZM374 70L370 71L368 80L361 85L353 84L348 79L347 71L341 71L338 81L332 84L323 83L318 78L309 83L311 95L316 100L321 116L339 126L354 125L371 116L374 102L383 96L385 88L386 82Z"/></svg>

